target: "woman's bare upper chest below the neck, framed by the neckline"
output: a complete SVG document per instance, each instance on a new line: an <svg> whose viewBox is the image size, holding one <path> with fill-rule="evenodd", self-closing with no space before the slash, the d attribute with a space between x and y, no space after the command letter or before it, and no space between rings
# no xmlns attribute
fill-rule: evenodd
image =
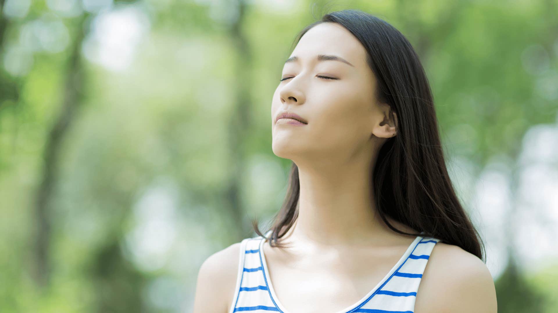
<svg viewBox="0 0 558 313"><path fill-rule="evenodd" d="M397 252L380 254L376 253L375 258L360 254L296 264L266 256L268 283L275 292L275 300L288 313L336 313L362 302L379 287L401 257Z"/></svg>

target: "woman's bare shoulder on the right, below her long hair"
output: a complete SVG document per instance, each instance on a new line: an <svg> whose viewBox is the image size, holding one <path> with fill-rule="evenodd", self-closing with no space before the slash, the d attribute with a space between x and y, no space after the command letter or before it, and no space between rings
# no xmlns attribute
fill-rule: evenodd
<svg viewBox="0 0 558 313"><path fill-rule="evenodd" d="M488 267L461 247L436 243L421 278L415 313L497 313Z"/></svg>

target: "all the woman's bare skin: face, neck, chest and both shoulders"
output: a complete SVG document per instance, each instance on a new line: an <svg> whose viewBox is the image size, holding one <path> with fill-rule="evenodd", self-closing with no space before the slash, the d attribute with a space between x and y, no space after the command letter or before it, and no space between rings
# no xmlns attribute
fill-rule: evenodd
<svg viewBox="0 0 558 313"><path fill-rule="evenodd" d="M319 61L318 55L335 55L350 65ZM291 247L280 250L266 242L264 257L285 313L335 313L368 294L414 239L383 223L371 193L370 173L379 148L397 135L397 115L392 119L389 106L375 100L376 78L365 62L364 47L342 26L313 27L292 56L298 60L285 63L284 80L273 94L272 150L299 167L299 217L283 237ZM308 124L276 122L285 110ZM418 233L390 221L402 231ZM232 309L239 244L201 265L194 313ZM488 268L460 247L437 243L414 312L497 313Z"/></svg>

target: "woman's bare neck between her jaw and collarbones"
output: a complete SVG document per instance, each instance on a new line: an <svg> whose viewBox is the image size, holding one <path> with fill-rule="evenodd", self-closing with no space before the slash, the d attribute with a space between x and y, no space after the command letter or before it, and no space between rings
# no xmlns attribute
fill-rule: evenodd
<svg viewBox="0 0 558 313"><path fill-rule="evenodd" d="M376 211L372 167L299 166L299 216L285 237L314 247L364 246L392 232Z"/></svg>

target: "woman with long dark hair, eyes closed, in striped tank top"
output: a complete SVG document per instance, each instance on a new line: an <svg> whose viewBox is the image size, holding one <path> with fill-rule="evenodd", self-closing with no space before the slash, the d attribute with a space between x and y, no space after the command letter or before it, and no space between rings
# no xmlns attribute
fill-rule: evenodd
<svg viewBox="0 0 558 313"><path fill-rule="evenodd" d="M194 312L496 313L406 38L362 11L297 37L271 105L289 189L266 234L201 266Z"/></svg>

